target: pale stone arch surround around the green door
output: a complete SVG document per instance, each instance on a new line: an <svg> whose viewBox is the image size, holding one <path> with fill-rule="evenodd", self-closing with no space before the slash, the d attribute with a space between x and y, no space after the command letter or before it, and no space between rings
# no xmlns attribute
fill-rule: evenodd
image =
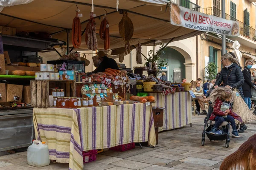
<svg viewBox="0 0 256 170"><path fill-rule="evenodd" d="M175 41L175 42L169 43L167 47L177 50L185 58L184 65L186 68L185 71L186 71L187 82L190 82L191 80L195 80L196 79L195 57L192 51L188 48L188 46L183 44L182 42Z"/></svg>

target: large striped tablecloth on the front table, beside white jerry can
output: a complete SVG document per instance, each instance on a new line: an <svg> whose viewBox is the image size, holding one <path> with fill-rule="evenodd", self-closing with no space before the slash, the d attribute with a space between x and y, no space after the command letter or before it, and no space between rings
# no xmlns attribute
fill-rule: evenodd
<svg viewBox="0 0 256 170"><path fill-rule="evenodd" d="M96 108L34 108L36 139L46 141L49 157L83 169L82 151L131 142L156 145L152 106L142 103Z"/></svg>

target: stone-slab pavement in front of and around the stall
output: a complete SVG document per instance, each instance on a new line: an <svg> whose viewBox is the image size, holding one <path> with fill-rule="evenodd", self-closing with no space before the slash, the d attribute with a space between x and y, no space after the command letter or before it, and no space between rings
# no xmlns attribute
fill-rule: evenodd
<svg viewBox="0 0 256 170"><path fill-rule="evenodd" d="M207 137L203 147L204 117L192 116L192 127L187 125L160 133L155 148L99 153L96 161L84 164L84 170L218 170L226 156L256 133L256 122L247 123L241 138L230 138L229 148L225 147L225 141L210 142ZM0 170L68 170L68 164L59 163L40 168L29 166L26 155L20 152L0 156Z"/></svg>

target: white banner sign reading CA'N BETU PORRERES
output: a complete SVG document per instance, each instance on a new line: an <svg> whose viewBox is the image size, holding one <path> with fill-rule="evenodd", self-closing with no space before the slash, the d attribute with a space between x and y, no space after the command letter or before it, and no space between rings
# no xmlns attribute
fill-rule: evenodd
<svg viewBox="0 0 256 170"><path fill-rule="evenodd" d="M173 3L170 5L171 24L229 36L239 36L238 21L203 14Z"/></svg>

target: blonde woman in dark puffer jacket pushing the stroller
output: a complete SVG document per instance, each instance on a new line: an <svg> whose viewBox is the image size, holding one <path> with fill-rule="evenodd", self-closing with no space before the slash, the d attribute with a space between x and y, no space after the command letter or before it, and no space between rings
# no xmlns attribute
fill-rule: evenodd
<svg viewBox="0 0 256 170"><path fill-rule="evenodd" d="M218 79L215 82L214 88L221 85L223 81L224 86L230 89L237 89L242 98L244 98L242 85L244 84L244 76L241 71L240 64L236 59L234 53L230 52L221 56L221 63L224 66Z"/></svg>

